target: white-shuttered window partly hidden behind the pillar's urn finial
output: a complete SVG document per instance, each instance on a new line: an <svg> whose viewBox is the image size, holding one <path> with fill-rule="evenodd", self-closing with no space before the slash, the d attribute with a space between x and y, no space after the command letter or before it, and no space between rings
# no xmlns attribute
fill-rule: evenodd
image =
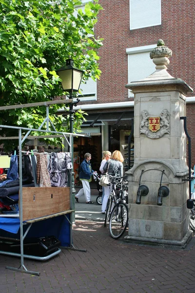
<svg viewBox="0 0 195 293"><path fill-rule="evenodd" d="M150 52L155 47L156 44L126 49L128 54L128 84L146 78L156 70L155 64L150 59ZM129 90L129 97L134 97L131 90Z"/></svg>

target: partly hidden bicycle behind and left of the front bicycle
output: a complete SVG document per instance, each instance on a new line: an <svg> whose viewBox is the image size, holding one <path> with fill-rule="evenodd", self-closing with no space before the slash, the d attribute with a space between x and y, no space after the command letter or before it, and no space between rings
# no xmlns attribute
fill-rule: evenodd
<svg viewBox="0 0 195 293"><path fill-rule="evenodd" d="M109 175L109 181L111 183L111 186L110 186L110 194L109 194L108 202L106 205L104 227L106 227L106 224L108 222L108 216L112 211L113 202L115 203L115 205L117 204L118 193L119 193L119 190L117 188L117 183L119 183L120 180L121 180L121 176L119 175L115 175L115 176Z"/></svg>

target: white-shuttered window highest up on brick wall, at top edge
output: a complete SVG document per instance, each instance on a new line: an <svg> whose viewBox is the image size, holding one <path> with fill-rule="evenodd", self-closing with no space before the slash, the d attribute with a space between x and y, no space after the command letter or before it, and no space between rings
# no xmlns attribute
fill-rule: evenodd
<svg viewBox="0 0 195 293"><path fill-rule="evenodd" d="M161 0L129 0L130 30L161 24Z"/></svg>

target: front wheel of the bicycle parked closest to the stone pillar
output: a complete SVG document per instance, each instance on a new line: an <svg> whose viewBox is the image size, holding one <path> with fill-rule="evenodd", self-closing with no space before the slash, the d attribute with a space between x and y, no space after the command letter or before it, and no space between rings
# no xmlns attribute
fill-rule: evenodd
<svg viewBox="0 0 195 293"><path fill-rule="evenodd" d="M120 238L128 225L128 208L124 203L114 207L110 215L109 232L112 238Z"/></svg>

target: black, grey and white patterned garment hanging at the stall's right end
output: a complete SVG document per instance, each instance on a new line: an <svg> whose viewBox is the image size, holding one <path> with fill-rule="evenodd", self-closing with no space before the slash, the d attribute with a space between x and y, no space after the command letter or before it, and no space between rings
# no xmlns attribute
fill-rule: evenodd
<svg viewBox="0 0 195 293"><path fill-rule="evenodd" d="M50 154L48 171L52 187L67 187L69 169L72 169L69 152L52 152Z"/></svg>

